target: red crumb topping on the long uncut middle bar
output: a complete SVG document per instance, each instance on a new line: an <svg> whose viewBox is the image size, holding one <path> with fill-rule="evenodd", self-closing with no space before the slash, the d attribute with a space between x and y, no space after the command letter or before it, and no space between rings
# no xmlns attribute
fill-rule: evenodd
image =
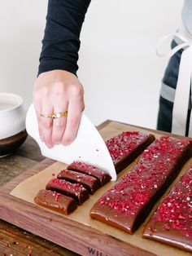
<svg viewBox="0 0 192 256"><path fill-rule="evenodd" d="M138 134L133 133L134 139ZM124 175L120 183L102 196L99 203L108 205L124 216L136 214L138 210L145 207L159 186L165 182L172 166L177 163L177 157L181 156L189 144L189 140L176 140L168 137L156 139L142 153L137 165ZM164 210L162 212L164 213ZM184 215L180 215L180 218L184 218Z"/></svg>

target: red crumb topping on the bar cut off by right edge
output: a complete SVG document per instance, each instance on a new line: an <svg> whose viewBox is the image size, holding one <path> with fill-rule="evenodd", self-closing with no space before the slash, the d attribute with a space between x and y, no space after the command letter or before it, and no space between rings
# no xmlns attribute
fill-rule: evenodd
<svg viewBox="0 0 192 256"><path fill-rule="evenodd" d="M192 166L172 188L151 218L151 223L162 223L166 230L178 230L192 237L190 210L192 207Z"/></svg>

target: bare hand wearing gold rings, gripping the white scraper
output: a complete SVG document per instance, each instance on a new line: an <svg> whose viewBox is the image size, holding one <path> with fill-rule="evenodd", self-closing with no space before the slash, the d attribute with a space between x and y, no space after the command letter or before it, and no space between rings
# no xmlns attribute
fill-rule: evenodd
<svg viewBox="0 0 192 256"><path fill-rule="evenodd" d="M84 90L78 78L64 70L41 73L33 90L39 135L48 148L55 144L68 145L76 138L84 105ZM65 113L67 117L52 119L42 114Z"/></svg>

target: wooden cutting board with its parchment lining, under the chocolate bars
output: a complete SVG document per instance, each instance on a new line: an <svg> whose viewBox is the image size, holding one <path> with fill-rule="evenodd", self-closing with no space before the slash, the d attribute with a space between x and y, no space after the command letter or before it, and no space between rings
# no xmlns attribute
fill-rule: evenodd
<svg viewBox="0 0 192 256"><path fill-rule="evenodd" d="M160 135L170 135L156 130L124 125L115 121L106 121L103 126L99 127L103 139L117 135L123 130L150 131L156 138ZM172 135L172 137L178 138L179 136ZM192 163L192 158L183 166L175 182L185 172L190 163ZM118 180L131 169L133 164L118 175ZM3 186L0 189L0 218L81 255L190 255L190 253L181 249L142 239L142 230L146 222L131 236L115 227L90 219L89 209L91 205L114 184L112 182L99 189L94 196L90 196L84 205L78 207L74 214L69 216L57 214L54 211L35 205L33 194L37 193L38 186L44 186L46 179L53 178L51 174L58 172L64 166L64 164L46 159ZM55 170L55 168L58 168L58 170ZM157 204L151 214L156 206Z"/></svg>

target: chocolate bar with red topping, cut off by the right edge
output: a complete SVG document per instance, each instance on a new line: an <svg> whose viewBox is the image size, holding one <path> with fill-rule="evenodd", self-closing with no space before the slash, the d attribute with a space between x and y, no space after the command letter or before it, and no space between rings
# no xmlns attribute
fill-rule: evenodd
<svg viewBox="0 0 192 256"><path fill-rule="evenodd" d="M165 196L147 223L143 237L192 253L192 166Z"/></svg>

